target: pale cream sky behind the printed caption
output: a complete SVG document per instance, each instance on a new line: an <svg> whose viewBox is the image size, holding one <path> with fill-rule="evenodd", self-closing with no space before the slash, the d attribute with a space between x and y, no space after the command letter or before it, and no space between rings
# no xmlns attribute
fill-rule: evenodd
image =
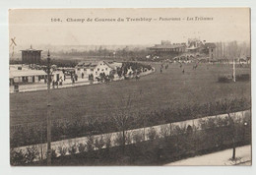
<svg viewBox="0 0 256 175"><path fill-rule="evenodd" d="M212 20L195 21L195 17ZM87 22L90 18L93 21ZM96 22L124 19L124 22ZM155 19L127 22L126 18ZM180 21L161 21L177 18ZM51 22L60 19L61 22ZM86 22L67 22L85 19ZM188 19L190 19L188 21ZM19 46L157 44L185 42L198 37L209 42L250 41L249 8L201 9L13 9L9 10L9 37ZM11 42L10 42L11 43Z"/></svg>

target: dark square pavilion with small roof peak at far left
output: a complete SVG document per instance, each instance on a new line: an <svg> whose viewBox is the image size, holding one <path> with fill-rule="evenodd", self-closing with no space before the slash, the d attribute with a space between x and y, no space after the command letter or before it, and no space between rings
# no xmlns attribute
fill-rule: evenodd
<svg viewBox="0 0 256 175"><path fill-rule="evenodd" d="M40 64L41 62L41 51L32 49L21 50L23 64Z"/></svg>

